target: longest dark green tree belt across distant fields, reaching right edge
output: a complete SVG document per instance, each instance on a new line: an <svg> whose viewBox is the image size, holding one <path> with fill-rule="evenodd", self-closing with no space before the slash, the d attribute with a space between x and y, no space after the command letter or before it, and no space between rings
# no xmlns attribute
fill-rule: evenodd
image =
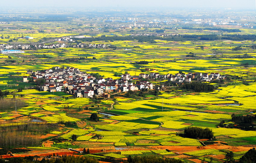
<svg viewBox="0 0 256 163"><path fill-rule="evenodd" d="M155 40L167 40L167 41L198 41L198 40L234 40L234 41L243 41L243 40L256 40L256 35L252 34L185 34L179 36L170 36L170 37L157 37L157 36L105 36L105 37L92 37L92 38L75 38L82 42L90 41L125 41L125 40L138 40L139 42L149 42L156 43Z"/></svg>

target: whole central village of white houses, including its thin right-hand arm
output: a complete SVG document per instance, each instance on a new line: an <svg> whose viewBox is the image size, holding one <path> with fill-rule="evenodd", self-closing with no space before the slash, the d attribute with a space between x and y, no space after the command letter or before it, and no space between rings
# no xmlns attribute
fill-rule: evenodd
<svg viewBox="0 0 256 163"><path fill-rule="evenodd" d="M151 71L154 71L152 69ZM156 70L155 70L156 71ZM224 79L220 73L177 73L175 75L160 75L157 72L148 74L141 73L139 76L131 76L130 74L122 74L121 79L99 78L83 73L74 67L53 67L52 69L42 71L28 70L33 81L45 79L45 83L41 85L42 91L61 92L66 91L74 97L92 98L93 95L109 98L110 93L127 92L129 90L150 90L154 85L148 81L140 81L139 79L167 79L173 83L191 82L193 79L198 82L210 82L211 80ZM136 82L131 82L135 80ZM23 82L28 82L28 77L23 77ZM160 89L160 88L159 88Z"/></svg>

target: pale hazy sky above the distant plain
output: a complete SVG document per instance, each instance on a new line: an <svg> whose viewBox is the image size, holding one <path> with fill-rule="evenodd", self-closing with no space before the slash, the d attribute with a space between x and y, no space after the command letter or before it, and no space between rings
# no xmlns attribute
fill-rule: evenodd
<svg viewBox="0 0 256 163"><path fill-rule="evenodd" d="M11 7L211 7L253 9L256 0L1 0L1 5ZM10 3L11 2L11 3Z"/></svg>

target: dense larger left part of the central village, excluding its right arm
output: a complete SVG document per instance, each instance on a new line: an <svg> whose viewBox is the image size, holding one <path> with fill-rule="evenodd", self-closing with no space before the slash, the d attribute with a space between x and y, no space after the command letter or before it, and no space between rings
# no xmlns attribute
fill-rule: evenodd
<svg viewBox="0 0 256 163"><path fill-rule="evenodd" d="M45 79L42 84L42 91L60 92L66 91L75 97L92 98L93 95L109 98L109 93L136 91L141 89L153 89L153 84L147 81L129 82L125 79L130 74L122 75L122 79L114 80L112 78L99 78L83 73L74 67L53 67L49 70L32 71L28 70L27 74L32 76L33 81ZM137 77L138 79L138 77ZM23 77L23 82L28 82L27 76Z"/></svg>

